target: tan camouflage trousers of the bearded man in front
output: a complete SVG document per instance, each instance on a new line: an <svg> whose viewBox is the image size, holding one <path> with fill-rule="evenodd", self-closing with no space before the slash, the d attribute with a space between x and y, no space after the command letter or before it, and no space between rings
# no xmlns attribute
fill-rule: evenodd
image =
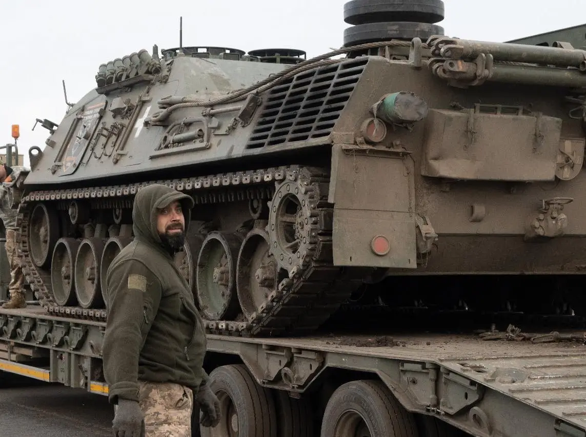
<svg viewBox="0 0 586 437"><path fill-rule="evenodd" d="M191 437L193 392L173 383L138 381L145 437Z"/></svg>

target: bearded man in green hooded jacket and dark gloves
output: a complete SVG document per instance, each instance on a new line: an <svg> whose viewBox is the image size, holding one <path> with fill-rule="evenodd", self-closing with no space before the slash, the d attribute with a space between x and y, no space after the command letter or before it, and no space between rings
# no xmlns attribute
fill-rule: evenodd
<svg viewBox="0 0 586 437"><path fill-rule="evenodd" d="M191 436L193 401L203 426L220 404L203 370L206 337L189 285L173 261L193 199L164 185L142 187L132 210L134 241L107 272L103 364L115 405L114 435Z"/></svg>

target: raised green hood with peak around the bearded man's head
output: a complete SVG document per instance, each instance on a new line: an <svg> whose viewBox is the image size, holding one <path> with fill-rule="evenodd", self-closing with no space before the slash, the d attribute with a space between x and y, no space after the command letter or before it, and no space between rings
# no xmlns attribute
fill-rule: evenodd
<svg viewBox="0 0 586 437"><path fill-rule="evenodd" d="M189 228L191 209L195 202L188 194L180 193L166 185L148 185L138 190L132 207L132 230L135 238L161 245L161 238L156 230L156 210L179 200L185 218L185 233Z"/></svg>

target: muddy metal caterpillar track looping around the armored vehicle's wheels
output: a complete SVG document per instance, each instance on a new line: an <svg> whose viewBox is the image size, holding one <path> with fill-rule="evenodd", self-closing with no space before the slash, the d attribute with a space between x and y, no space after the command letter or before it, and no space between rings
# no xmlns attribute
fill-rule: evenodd
<svg viewBox="0 0 586 437"><path fill-rule="evenodd" d="M105 309L59 306L54 301L49 272L36 267L30 254L29 220L36 203L54 204L56 209L63 209L63 201L84 199L90 202L92 209L131 207L132 196L141 187L159 183L190 194L196 205L250 199L261 199L270 204L275 185L287 181L302 181L309 200L305 206L311 217L309 244L306 245L302 262L278 284L251 320L206 320L206 332L229 336L280 336L312 332L338 310L361 284L359 278L332 265L333 207L327 203L329 175L323 169L284 166L185 179L152 180L125 186L30 192L22 197L19 210L26 281L41 305L52 315L101 322L107 319Z"/></svg>

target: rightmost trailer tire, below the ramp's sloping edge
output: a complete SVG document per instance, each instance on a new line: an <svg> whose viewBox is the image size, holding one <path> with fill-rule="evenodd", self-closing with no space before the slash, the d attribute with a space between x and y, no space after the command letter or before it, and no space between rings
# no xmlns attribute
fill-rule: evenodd
<svg viewBox="0 0 586 437"><path fill-rule="evenodd" d="M364 422L370 437L419 435L413 414L404 409L380 381L352 381L340 385L326 405L321 437L353 437L356 430L352 429L355 421L349 419L352 416Z"/></svg>

